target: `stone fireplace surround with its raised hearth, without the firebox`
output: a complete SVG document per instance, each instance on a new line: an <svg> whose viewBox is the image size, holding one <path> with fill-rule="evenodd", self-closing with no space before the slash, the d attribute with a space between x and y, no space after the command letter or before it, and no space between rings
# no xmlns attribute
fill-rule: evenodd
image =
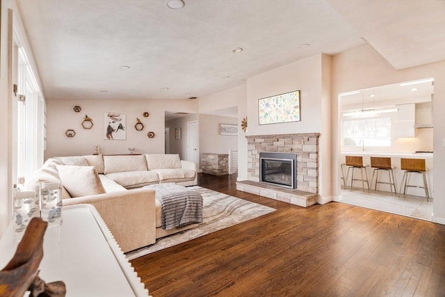
<svg viewBox="0 0 445 297"><path fill-rule="evenodd" d="M289 202L302 207L318 200L319 133L245 136L248 139L248 180L236 183L239 191ZM296 154L296 188L261 182L261 153Z"/></svg>

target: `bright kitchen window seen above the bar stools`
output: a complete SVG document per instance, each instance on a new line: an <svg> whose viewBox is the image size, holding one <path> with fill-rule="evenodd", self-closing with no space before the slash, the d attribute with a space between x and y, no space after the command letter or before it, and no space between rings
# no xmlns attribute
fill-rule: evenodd
<svg viewBox="0 0 445 297"><path fill-rule="evenodd" d="M341 145L384 147L391 145L391 118L353 118L341 122Z"/></svg>

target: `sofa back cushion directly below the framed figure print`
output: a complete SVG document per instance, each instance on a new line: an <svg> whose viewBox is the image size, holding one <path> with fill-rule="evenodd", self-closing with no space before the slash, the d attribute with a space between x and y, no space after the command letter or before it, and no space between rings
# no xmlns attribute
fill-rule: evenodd
<svg viewBox="0 0 445 297"><path fill-rule="evenodd" d="M147 170L147 161L143 154L126 156L104 156L104 174L115 172Z"/></svg>

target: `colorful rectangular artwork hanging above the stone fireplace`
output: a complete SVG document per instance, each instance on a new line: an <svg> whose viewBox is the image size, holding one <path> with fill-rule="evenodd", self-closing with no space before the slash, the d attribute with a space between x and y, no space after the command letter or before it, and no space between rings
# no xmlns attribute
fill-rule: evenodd
<svg viewBox="0 0 445 297"><path fill-rule="evenodd" d="M300 90L258 100L259 125L300 120Z"/></svg>

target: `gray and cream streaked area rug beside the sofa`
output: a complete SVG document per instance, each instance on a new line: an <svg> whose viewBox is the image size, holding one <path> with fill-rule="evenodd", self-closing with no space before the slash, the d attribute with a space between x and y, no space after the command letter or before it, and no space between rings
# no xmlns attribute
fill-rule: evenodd
<svg viewBox="0 0 445 297"><path fill-rule="evenodd" d="M191 186L188 188L198 191L202 195L204 202L204 209L202 211L203 222L191 230L163 237L156 240L156 243L151 246L128 252L125 254L127 259L136 259L149 253L162 250L163 248L170 248L170 246L176 246L179 243L195 239L211 232L223 230L227 227L245 222L246 220L252 220L252 218L257 218L275 211L275 209L271 207L236 198L225 193L212 191L208 188L202 188L200 186Z"/></svg>

